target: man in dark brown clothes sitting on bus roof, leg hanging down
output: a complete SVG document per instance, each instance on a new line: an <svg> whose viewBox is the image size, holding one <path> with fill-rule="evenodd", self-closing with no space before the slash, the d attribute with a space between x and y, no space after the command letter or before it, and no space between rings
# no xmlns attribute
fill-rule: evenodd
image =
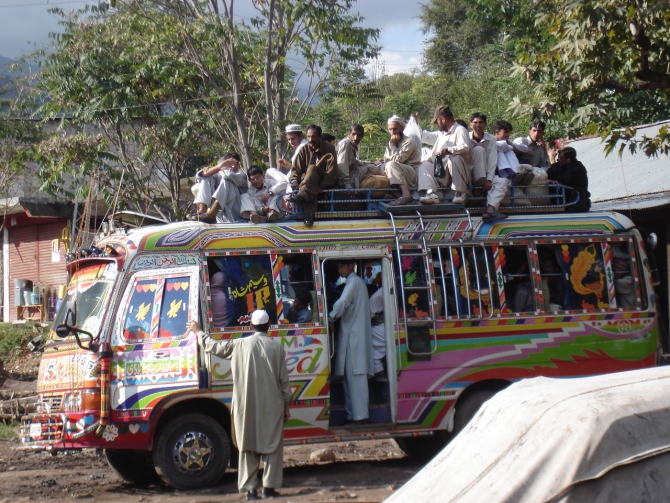
<svg viewBox="0 0 670 503"><path fill-rule="evenodd" d="M339 171L335 146L321 139L321 128L316 124L307 127L307 145L300 149L293 164L289 180L298 194L289 201L305 210L305 225L314 225L316 198L325 189L337 186Z"/></svg>

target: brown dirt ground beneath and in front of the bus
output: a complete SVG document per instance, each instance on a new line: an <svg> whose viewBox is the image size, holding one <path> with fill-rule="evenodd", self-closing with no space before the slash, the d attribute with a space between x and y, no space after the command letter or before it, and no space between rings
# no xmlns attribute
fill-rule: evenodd
<svg viewBox="0 0 670 503"><path fill-rule="evenodd" d="M34 383L7 380L4 389L27 390ZM162 483L124 482L93 449L60 453L19 451L19 442L0 441L0 503L95 501L103 503L214 503L244 501L237 472L228 470L209 489L178 491ZM310 454L329 449L335 461L313 462ZM338 442L284 448L284 487L278 502L381 502L421 469L393 440Z"/></svg>

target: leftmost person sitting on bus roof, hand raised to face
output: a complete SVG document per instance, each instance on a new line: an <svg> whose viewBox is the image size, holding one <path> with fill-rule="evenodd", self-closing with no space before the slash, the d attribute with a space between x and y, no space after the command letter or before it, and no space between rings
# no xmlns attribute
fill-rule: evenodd
<svg viewBox="0 0 670 503"><path fill-rule="evenodd" d="M196 173L192 190L198 213L193 220L208 224L234 222L240 217L240 193L247 190L247 175L240 171L240 156L229 153L216 166Z"/></svg>

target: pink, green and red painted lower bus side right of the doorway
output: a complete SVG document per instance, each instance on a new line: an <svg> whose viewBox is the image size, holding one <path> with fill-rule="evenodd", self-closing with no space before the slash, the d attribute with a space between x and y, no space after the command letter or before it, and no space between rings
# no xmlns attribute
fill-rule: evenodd
<svg viewBox="0 0 670 503"><path fill-rule="evenodd" d="M430 360L408 359L402 341L398 426L446 428L453 400L475 382L652 367L657 338L655 313L648 312L439 323Z"/></svg>

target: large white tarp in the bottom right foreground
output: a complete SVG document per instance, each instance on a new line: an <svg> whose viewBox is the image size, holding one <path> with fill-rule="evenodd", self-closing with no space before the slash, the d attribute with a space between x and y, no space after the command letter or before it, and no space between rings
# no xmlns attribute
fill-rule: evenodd
<svg viewBox="0 0 670 503"><path fill-rule="evenodd" d="M387 503L670 501L670 367L501 391Z"/></svg>

